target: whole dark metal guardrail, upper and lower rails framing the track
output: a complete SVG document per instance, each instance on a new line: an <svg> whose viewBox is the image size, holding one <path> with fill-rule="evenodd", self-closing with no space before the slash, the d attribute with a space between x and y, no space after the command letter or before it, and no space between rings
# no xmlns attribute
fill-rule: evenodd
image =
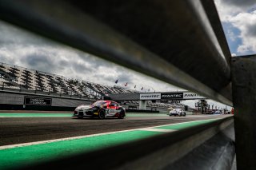
<svg viewBox="0 0 256 170"><path fill-rule="evenodd" d="M0 19L232 105L230 51L213 0L0 0ZM178 160L210 140L222 130L219 125L232 119L36 168L177 168ZM230 168L234 143L220 136L226 143L217 142L217 148L227 147L221 165ZM117 159L110 161L113 155ZM84 160L88 164L83 164Z"/></svg>

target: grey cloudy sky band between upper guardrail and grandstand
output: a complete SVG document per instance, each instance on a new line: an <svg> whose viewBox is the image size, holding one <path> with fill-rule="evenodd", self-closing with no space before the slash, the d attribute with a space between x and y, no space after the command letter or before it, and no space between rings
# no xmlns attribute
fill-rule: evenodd
<svg viewBox="0 0 256 170"><path fill-rule="evenodd" d="M114 81L118 79L118 85L121 86L128 82L128 89L134 89L131 85L146 88L147 85L155 84L155 81L150 82L146 77L110 61L46 41L4 22L0 22L0 33L0 48L6 48L0 51L0 61L7 64L104 85L115 85ZM159 88L161 85L155 89Z"/></svg>

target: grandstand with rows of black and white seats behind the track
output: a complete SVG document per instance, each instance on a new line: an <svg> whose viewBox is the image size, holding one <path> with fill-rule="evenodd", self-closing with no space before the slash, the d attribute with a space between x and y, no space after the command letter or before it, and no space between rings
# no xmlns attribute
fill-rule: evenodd
<svg viewBox="0 0 256 170"><path fill-rule="evenodd" d="M90 100L99 100L108 93L139 93L114 85L100 85L97 83L69 79L52 73L27 69L17 65L0 63L0 89L26 93L41 93L61 97L77 97ZM138 101L125 101L128 105L138 105ZM182 104L153 103L146 105L156 108L177 108Z"/></svg>

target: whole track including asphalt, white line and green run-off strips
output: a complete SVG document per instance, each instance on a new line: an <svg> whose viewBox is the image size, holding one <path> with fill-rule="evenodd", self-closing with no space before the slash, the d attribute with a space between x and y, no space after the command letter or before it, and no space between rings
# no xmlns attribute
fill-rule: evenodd
<svg viewBox="0 0 256 170"><path fill-rule="evenodd" d="M47 164L65 156L94 152L227 117L129 113L123 120L98 120L71 116L72 113L0 113L0 169Z"/></svg>

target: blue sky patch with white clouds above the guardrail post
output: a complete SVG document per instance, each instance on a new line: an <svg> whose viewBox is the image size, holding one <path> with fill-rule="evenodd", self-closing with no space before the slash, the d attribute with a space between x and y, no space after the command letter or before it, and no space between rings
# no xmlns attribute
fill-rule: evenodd
<svg viewBox="0 0 256 170"><path fill-rule="evenodd" d="M256 0L215 0L233 56L256 53Z"/></svg>

